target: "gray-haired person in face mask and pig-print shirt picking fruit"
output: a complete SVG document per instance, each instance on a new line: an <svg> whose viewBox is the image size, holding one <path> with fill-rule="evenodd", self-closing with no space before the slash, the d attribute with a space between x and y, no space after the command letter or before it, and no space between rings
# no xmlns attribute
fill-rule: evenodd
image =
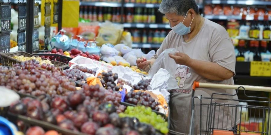
<svg viewBox="0 0 271 135"><path fill-rule="evenodd" d="M199 14L195 0L162 0L159 11L167 17L172 31L169 32L157 53L148 61L137 59L138 67L148 71L156 58L168 48L179 53L169 54L178 64L176 82L179 89L170 91L170 133L189 134L191 118L192 84L194 81L234 84L235 52L226 30ZM235 90L200 88L195 96L210 97L212 93L235 94ZM220 98L238 99L237 96ZM223 104L238 104L236 101L216 101ZM206 101L210 103L210 101ZM194 134L206 130L207 107L202 110L203 123L200 129L199 100L195 100ZM214 128L229 129L238 123L232 108L216 107ZM223 116L222 116L223 113ZM236 118L236 119L235 119ZM227 122L226 122L227 121ZM223 124L224 123L224 124ZM204 133L205 134L205 133Z"/></svg>

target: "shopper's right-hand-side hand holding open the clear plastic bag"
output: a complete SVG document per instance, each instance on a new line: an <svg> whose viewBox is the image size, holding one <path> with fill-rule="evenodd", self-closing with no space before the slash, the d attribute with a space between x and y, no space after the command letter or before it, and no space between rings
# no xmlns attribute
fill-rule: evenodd
<svg viewBox="0 0 271 135"><path fill-rule="evenodd" d="M176 64L180 65L188 66L188 63L192 60L187 54L181 52L176 52L175 55L169 53L168 55L175 60Z"/></svg>

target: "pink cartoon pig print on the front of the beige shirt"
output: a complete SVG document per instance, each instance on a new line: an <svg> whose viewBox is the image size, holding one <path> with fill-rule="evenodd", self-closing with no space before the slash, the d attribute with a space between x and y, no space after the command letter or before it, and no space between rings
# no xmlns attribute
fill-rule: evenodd
<svg viewBox="0 0 271 135"><path fill-rule="evenodd" d="M176 69L175 79L176 82L178 83L179 88L183 88L185 80L191 76L191 73L188 73L188 70L189 67L183 65L179 66Z"/></svg>

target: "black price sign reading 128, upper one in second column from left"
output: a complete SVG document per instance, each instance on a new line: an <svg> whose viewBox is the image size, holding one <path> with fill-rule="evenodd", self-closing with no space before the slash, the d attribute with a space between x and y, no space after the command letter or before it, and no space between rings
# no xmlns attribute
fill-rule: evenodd
<svg viewBox="0 0 271 135"><path fill-rule="evenodd" d="M18 2L18 30L26 29L26 3Z"/></svg>

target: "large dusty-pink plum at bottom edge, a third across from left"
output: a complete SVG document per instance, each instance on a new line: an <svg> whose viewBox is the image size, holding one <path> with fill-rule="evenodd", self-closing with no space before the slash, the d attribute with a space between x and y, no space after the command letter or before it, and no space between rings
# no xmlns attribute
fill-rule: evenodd
<svg viewBox="0 0 271 135"><path fill-rule="evenodd" d="M98 128L100 128L100 127L95 122L85 122L81 126L81 132L94 135L96 133L96 131L98 130Z"/></svg>

